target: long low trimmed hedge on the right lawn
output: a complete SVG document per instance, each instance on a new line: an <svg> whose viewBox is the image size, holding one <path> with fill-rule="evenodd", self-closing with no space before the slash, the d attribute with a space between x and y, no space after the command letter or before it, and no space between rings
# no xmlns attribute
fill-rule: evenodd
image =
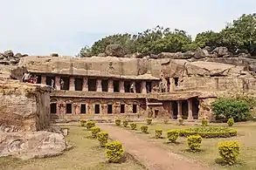
<svg viewBox="0 0 256 170"><path fill-rule="evenodd" d="M202 138L230 138L237 136L237 130L220 126L197 126L181 129L180 136L200 135Z"/></svg>

